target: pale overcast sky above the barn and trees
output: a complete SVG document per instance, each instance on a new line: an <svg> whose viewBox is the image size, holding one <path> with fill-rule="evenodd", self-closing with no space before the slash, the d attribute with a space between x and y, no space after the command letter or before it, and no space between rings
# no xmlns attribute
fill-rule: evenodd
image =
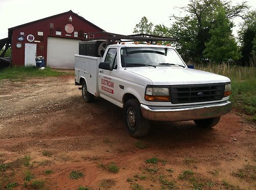
<svg viewBox="0 0 256 190"><path fill-rule="evenodd" d="M238 2L243 1L232 0L233 5ZM247 2L251 9L256 8L255 0ZM9 28L69 10L106 32L129 35L143 16L154 25L170 26L169 16L179 14L177 7L188 3L189 0L0 0L0 39L8 37Z"/></svg>

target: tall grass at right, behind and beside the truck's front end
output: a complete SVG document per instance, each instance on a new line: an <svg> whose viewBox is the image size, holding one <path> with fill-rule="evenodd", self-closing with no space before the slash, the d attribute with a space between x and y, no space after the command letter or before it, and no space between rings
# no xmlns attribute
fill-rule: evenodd
<svg viewBox="0 0 256 190"><path fill-rule="evenodd" d="M229 77L231 79L230 100L234 107L251 115L251 120L256 121L256 67L208 64L195 65L195 68Z"/></svg>

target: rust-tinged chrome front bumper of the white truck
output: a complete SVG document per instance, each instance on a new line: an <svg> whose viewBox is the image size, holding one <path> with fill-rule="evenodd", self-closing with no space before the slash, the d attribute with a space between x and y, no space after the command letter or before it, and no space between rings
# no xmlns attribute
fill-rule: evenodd
<svg viewBox="0 0 256 190"><path fill-rule="evenodd" d="M155 121L188 121L220 117L231 110L231 102L223 101L187 106L147 106L140 104L144 118Z"/></svg>

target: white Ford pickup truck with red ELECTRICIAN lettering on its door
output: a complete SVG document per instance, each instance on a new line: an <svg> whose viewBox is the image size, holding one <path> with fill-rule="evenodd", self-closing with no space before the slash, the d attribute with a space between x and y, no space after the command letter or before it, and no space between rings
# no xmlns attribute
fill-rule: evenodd
<svg viewBox="0 0 256 190"><path fill-rule="evenodd" d="M231 110L230 79L190 69L169 45L113 44L102 58L75 55L75 84L92 102L122 107L126 130L143 137L150 121L188 121L213 127Z"/></svg>

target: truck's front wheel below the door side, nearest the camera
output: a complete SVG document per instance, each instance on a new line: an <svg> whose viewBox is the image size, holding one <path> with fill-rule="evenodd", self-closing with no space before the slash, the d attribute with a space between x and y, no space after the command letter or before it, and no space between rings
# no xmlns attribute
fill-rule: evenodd
<svg viewBox="0 0 256 190"><path fill-rule="evenodd" d="M144 137L150 130L150 121L143 118L137 99L130 99L125 103L124 123L126 130L135 138Z"/></svg>

